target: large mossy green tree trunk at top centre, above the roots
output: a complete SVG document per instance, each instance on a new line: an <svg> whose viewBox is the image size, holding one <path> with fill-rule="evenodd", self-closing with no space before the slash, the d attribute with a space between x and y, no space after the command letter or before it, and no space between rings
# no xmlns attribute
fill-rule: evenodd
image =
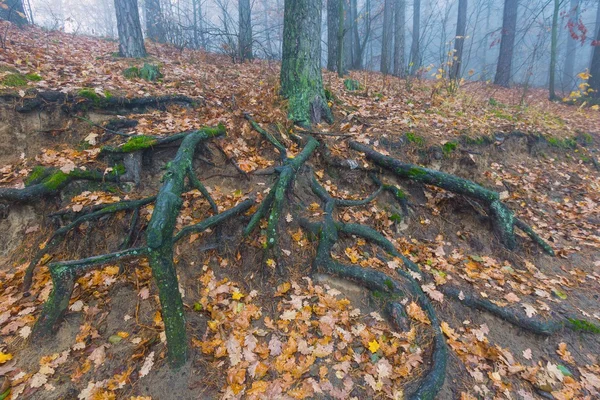
<svg viewBox="0 0 600 400"><path fill-rule="evenodd" d="M285 0L281 93L288 118L309 127L333 122L321 76L321 0Z"/></svg>

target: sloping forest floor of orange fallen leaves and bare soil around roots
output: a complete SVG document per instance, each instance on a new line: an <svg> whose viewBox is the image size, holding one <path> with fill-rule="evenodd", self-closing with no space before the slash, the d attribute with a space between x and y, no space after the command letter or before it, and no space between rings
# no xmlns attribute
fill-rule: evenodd
<svg viewBox="0 0 600 400"><path fill-rule="evenodd" d="M147 44L146 60L121 59L115 57L114 41L0 28L7 35L0 51L3 187L23 188L36 166L67 173L111 168L102 147L127 141L107 128L115 119L137 121L125 128L128 134L164 137L223 123L227 136L203 144L194 160L220 212L249 198L264 199L274 181L264 172L280 162L245 113L279 137L288 155L301 150L290 139L297 128L287 121L286 104L278 96L278 63L234 64L226 56L154 43ZM124 76L125 69L144 62L158 64L163 78L148 82ZM16 82L22 85L7 86L15 76L24 79ZM385 178L407 194L408 215L389 193L368 205L339 210L339 220L383 233L432 281L423 288L450 349L437 398L599 398L597 107L549 102L545 91L532 88L468 82L453 89L443 78L350 76L360 83L358 90L348 90L344 79L324 72L336 122L313 128L332 155L352 167L333 167L322 155L310 159L307 164L329 194L360 199L376 188L363 171L373 164L348 147L349 141L358 141L499 192L556 253L544 254L525 235L518 235L517 248L509 251L478 204L408 180ZM48 91L74 99L67 107L40 97ZM110 98L165 95L188 96L195 103L105 107ZM265 273L266 222L260 232L242 238L247 215L228 222L218 234L194 234L175 246L191 340L189 361L180 370L171 370L165 358L158 293L144 259L106 265L79 278L56 336L30 340L52 288L45 265L115 251L130 231L131 216L124 212L82 224L42 258L31 295L25 297L25 269L60 222L49 214L77 215L94 205L155 195L163 167L176 152L176 146L148 152L135 187L75 183L47 199L2 203L0 385L6 386L0 395L8 387L11 399L401 399L411 393L431 367L431 321L407 296L401 301L410 324L391 325L377 293L311 275L316 244L298 220L319 220L323 208L306 174L299 174L287 196L280 224L277 263L283 275L271 259ZM152 212L153 205L140 209L140 222L130 232L132 244L144 242ZM211 213L209 202L191 190L183 194L177 227ZM397 259L382 261L361 238L340 240L332 256L388 274L401 268ZM459 298L442 294L446 286L457 288ZM579 332L537 335L467 307L461 301L465 295L525 318L568 315L593 324L582 323Z"/></svg>

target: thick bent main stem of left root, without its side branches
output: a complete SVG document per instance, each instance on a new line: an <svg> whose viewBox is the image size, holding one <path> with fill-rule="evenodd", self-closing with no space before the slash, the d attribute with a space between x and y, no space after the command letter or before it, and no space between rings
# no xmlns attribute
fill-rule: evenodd
<svg viewBox="0 0 600 400"><path fill-rule="evenodd" d="M175 158L168 164L146 231L150 268L158 287L168 358L173 367L181 367L187 359L183 301L173 263L173 231L182 206L181 193L185 187L185 178L192 168L198 144L224 134L225 127L220 125L218 128L205 128L186 135Z"/></svg>

